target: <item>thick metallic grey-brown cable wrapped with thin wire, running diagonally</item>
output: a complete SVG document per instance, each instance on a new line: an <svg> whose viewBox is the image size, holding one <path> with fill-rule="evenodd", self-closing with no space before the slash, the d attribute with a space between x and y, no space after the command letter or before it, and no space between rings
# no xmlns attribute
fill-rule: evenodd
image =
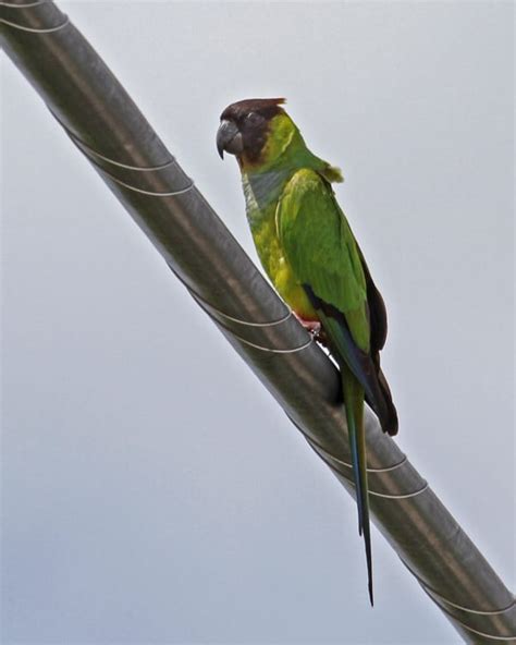
<svg viewBox="0 0 516 645"><path fill-rule="evenodd" d="M278 299L53 2L11 0L0 8L8 54L310 447L353 494L334 364ZM516 643L512 594L369 412L366 430L377 526L466 642ZM391 640L395 642L395 634Z"/></svg>

